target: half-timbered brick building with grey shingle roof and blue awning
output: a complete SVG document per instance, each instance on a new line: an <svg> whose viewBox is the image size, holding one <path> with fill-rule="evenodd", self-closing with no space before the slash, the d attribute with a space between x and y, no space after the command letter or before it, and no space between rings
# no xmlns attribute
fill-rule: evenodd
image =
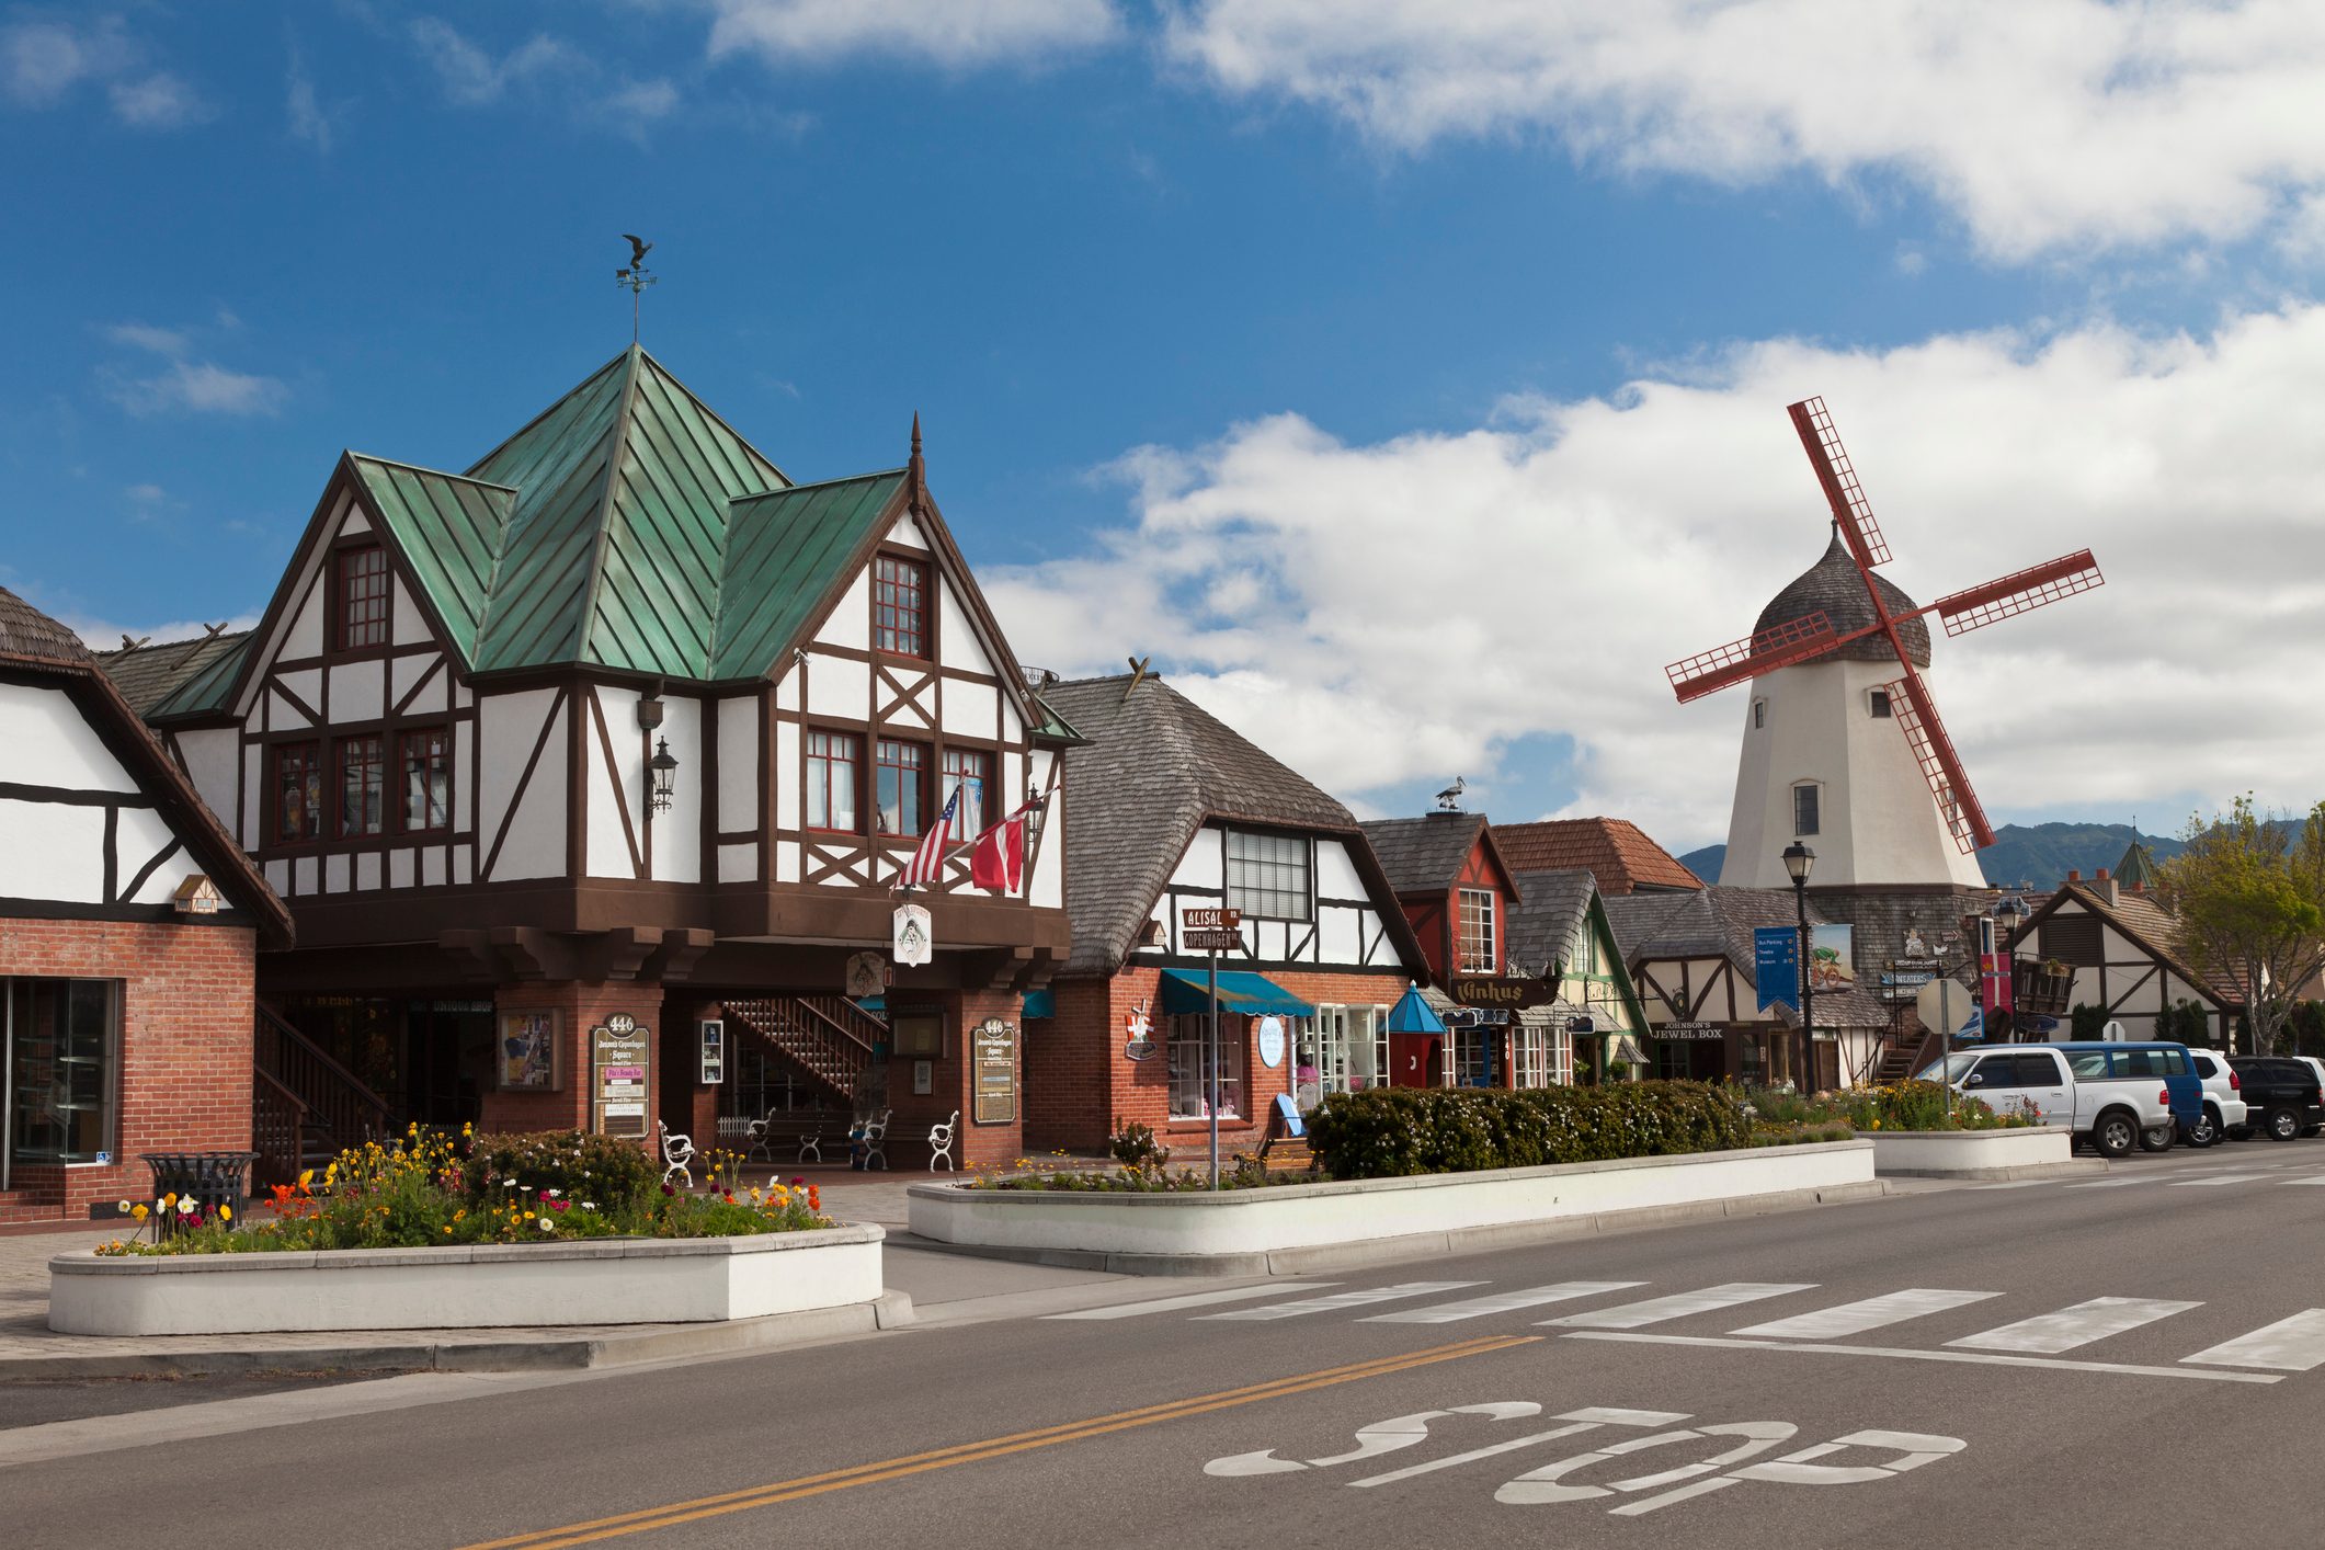
<svg viewBox="0 0 2325 1550"><path fill-rule="evenodd" d="M1086 1150L1139 1122L1183 1148L1209 1129L1214 964L1188 911L1242 913L1216 962L1228 1141L1253 1141L1276 1095L1309 1108L1388 1083L1388 1011L1428 957L1348 809L1156 676L1039 697L1079 737L1074 946L1028 1009L1028 1141Z"/></svg>

